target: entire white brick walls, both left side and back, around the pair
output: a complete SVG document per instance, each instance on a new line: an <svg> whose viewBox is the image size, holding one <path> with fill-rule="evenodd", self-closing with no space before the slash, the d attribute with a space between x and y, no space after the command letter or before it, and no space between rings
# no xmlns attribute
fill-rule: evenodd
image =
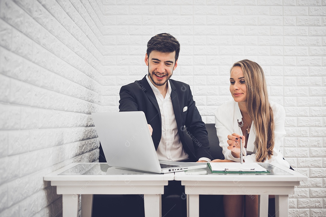
<svg viewBox="0 0 326 217"><path fill-rule="evenodd" d="M90 113L118 110L161 32L180 41L172 78L191 85L207 123L231 100L231 65L263 67L287 114L284 156L309 177L289 216L325 216L325 11L325 0L0 0L0 216L61 215L43 176L97 160Z"/></svg>

